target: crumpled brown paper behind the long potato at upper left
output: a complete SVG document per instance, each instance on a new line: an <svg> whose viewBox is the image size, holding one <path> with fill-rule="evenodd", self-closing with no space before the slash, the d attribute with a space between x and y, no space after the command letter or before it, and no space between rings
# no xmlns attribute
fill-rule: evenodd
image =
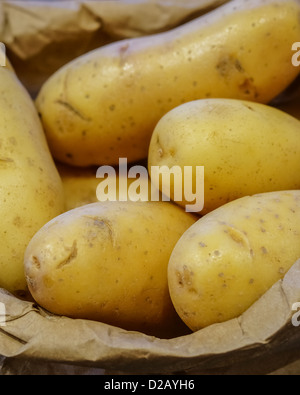
<svg viewBox="0 0 300 395"><path fill-rule="evenodd" d="M0 2L0 41L36 96L65 63L116 40L159 33L229 0Z"/></svg>

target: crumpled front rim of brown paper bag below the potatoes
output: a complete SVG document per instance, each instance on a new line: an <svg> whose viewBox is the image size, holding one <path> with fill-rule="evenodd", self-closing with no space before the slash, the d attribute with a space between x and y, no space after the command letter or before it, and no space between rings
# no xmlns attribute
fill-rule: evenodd
<svg viewBox="0 0 300 395"><path fill-rule="evenodd" d="M4 357L135 374L267 374L300 358L300 260L237 319L165 340L47 313L0 292Z"/></svg>

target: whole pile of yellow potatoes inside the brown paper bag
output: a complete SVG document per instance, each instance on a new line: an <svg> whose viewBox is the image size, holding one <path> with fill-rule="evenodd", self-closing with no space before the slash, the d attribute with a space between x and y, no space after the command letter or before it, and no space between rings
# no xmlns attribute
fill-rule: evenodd
<svg viewBox="0 0 300 395"><path fill-rule="evenodd" d="M300 74L299 13L229 1L74 59L35 102L1 67L0 287L169 338L239 316L283 278L300 257L300 113L270 103ZM97 168L120 158L150 178L204 166L203 210L173 184L155 202L97 201Z"/></svg>

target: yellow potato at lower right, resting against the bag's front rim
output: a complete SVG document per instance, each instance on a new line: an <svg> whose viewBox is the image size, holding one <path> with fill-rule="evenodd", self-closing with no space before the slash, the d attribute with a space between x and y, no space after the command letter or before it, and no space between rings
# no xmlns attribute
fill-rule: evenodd
<svg viewBox="0 0 300 395"><path fill-rule="evenodd" d="M207 214L168 267L176 311L193 330L242 314L300 257L300 191L247 196Z"/></svg>

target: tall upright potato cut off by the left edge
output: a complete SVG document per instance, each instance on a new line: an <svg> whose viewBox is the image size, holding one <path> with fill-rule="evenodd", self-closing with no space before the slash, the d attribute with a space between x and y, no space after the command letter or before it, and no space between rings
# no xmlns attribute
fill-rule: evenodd
<svg viewBox="0 0 300 395"><path fill-rule="evenodd" d="M27 91L10 68L0 85L0 287L26 296L25 249L63 212L63 188Z"/></svg>

